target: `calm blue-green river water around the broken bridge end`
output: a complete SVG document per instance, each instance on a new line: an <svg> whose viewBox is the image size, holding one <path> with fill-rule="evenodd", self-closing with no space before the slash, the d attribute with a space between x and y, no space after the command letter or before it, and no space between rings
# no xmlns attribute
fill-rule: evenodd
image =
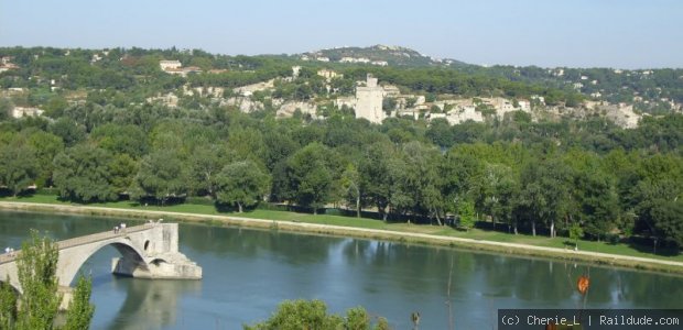
<svg viewBox="0 0 683 330"><path fill-rule="evenodd" d="M18 248L30 228L66 239L121 221L0 211L0 246ZM94 278L93 329L240 329L296 298L323 299L335 312L361 305L394 329L411 329L420 311L421 329L447 329L451 262L458 329L492 329L498 308L577 308L582 274L592 279L588 308L683 308L682 277L453 249L181 226L181 251L204 279L115 277L116 250L90 257L82 271Z"/></svg>

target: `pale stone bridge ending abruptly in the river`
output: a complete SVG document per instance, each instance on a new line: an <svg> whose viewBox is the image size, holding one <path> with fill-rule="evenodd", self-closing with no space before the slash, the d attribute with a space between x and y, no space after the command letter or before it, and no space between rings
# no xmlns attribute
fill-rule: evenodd
<svg viewBox="0 0 683 330"><path fill-rule="evenodd" d="M142 226L58 241L57 280L71 286L80 266L97 251L111 245L121 253L112 260L111 272L139 278L200 279L202 267L178 251L177 223L150 222ZM0 255L0 280L22 292L17 276L17 256Z"/></svg>

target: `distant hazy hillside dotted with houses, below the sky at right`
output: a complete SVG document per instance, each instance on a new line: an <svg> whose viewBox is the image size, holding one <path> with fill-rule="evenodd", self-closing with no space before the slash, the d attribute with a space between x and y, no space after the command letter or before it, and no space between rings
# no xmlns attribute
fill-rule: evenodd
<svg viewBox="0 0 683 330"><path fill-rule="evenodd" d="M542 68L536 66L483 67L455 59L440 59L418 51L375 45L335 47L294 54L291 57L317 65L361 65L365 67L442 68L469 76L546 86L574 91L592 101L632 105L638 112L666 114L681 110L683 103L682 69ZM424 82L424 81L422 81Z"/></svg>

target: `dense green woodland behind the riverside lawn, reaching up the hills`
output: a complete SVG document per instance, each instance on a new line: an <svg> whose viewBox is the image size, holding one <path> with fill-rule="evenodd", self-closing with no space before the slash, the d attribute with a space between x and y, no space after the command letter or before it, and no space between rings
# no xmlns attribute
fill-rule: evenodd
<svg viewBox="0 0 683 330"><path fill-rule="evenodd" d="M209 75L163 74L160 58L234 70L235 76L226 76L229 84L240 75L257 80L279 75L286 58L111 50L91 65L90 51L72 50L69 56L39 51L36 58L30 56L35 50L13 48L22 68L0 76L7 86L30 87L25 101L42 102L47 110L47 118L0 121L0 186L6 195L23 194L36 184L39 189L54 186L62 198L78 202L132 198L166 205L196 196L237 209L265 199L312 212L346 205L356 215L376 212L387 221L466 229L478 221L511 233L549 235L568 235L578 226L581 231L574 232L588 239L646 238L654 245L683 246L681 114L646 117L632 130L603 118L532 122L523 112L458 125L399 118L372 125L342 110L330 110L325 120L275 119L268 107L246 114L212 102L167 108L141 100L186 82L218 84L203 81L214 79ZM52 57L57 59L47 61ZM111 81L106 75L89 80L108 67L117 68ZM310 84L282 81L275 91L314 96L318 78L312 69L301 73ZM343 87L345 79L366 72L349 67L347 78L330 84ZM445 69L375 72L387 81L434 92L555 92ZM44 82L29 79L34 75L85 88L88 96L66 102L65 92L39 95ZM235 84L252 81L245 79ZM557 99L573 95L557 92Z"/></svg>

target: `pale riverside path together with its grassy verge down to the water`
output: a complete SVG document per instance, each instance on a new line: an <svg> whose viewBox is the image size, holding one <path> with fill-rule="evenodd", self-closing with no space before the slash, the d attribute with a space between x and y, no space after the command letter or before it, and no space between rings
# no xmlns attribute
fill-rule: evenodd
<svg viewBox="0 0 683 330"><path fill-rule="evenodd" d="M89 206L71 206L71 205L52 205L52 204L33 204L33 202L14 202L0 201L0 209L28 210L28 211L52 211L66 213L86 213L94 216L112 216L112 217L132 217L142 219L171 218L172 221L198 221L210 222L218 221L220 223L251 227L282 229L297 232L324 233L343 237L358 237L378 240L393 240L399 242L415 242L447 246L465 246L475 250L485 250L494 252L503 252L514 255L535 255L550 256L563 260L587 261L600 264L611 264L626 267L636 267L642 270L664 271L671 273L683 274L683 262L665 261L649 257L638 257L629 255L608 254L588 251L574 251L557 248L535 246L520 243L506 243L496 241L474 240L464 238L453 238L443 235L433 235L424 233L399 232L380 229L366 229L332 224L317 224L306 222L292 222L282 220L252 219L234 216L213 216L196 215L185 212L153 211L153 210L131 210L105 207Z"/></svg>

